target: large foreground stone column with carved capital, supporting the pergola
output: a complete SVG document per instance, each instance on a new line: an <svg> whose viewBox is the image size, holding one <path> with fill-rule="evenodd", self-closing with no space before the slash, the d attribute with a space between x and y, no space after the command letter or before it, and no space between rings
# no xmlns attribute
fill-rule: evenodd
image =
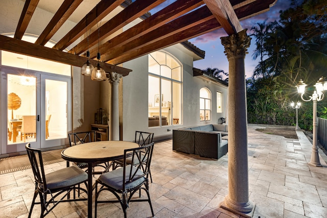
<svg viewBox="0 0 327 218"><path fill-rule="evenodd" d="M247 111L244 58L251 38L246 29L231 36L221 37L229 62L228 78L228 195L221 207L242 214L253 215L249 202Z"/></svg>

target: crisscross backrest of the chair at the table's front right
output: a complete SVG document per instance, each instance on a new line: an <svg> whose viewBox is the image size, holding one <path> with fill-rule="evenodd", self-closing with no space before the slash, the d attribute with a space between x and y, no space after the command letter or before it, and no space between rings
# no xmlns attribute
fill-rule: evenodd
<svg viewBox="0 0 327 218"><path fill-rule="evenodd" d="M123 169L123 190L129 184L142 177L148 179L154 142L140 148L124 150L124 169ZM132 158L133 163L128 164L127 158Z"/></svg>

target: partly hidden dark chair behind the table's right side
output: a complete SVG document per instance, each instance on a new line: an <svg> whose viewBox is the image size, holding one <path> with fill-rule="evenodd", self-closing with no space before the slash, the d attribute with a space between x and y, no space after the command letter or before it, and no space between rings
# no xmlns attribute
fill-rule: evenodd
<svg viewBox="0 0 327 218"><path fill-rule="evenodd" d="M142 132L142 131L135 131L135 143L138 143L140 147L146 146L153 142L154 133L152 132ZM112 168L115 169L119 166L123 166L123 159L115 160L112 162ZM127 164L132 164L132 158L129 157L126 160ZM151 171L149 171L150 180L152 183L152 176Z"/></svg>

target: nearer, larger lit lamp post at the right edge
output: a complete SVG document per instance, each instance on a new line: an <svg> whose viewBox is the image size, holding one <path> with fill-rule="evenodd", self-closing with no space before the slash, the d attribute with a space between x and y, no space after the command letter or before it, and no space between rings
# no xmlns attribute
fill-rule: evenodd
<svg viewBox="0 0 327 218"><path fill-rule="evenodd" d="M317 139L317 101L321 101L323 99L323 90L327 90L327 81L325 78L320 77L317 83L314 85L316 87L316 90L313 92L312 96L309 96L309 100L303 99L303 94L305 93L307 84L303 82L303 80L300 80L298 84L295 86L297 87L298 93L301 94L301 99L303 101L309 102L313 101L313 139L312 139L312 153L311 153L311 165L314 166L321 166L319 161L319 154L318 154L318 139Z"/></svg>

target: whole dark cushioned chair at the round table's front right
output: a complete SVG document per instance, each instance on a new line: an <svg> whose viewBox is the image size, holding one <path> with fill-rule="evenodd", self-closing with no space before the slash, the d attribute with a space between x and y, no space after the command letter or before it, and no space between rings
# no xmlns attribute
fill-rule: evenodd
<svg viewBox="0 0 327 218"><path fill-rule="evenodd" d="M126 212L130 202L146 201L150 205L152 216L154 216L149 194L148 179L153 147L154 142L143 147L126 149L124 151L123 167L106 172L96 180L95 217L97 217L98 204L119 202L124 211L124 217L126 218ZM127 164L126 160L129 157L132 158L132 161L138 162L138 164ZM98 185L100 189L98 189ZM145 190L147 198L132 198L134 193L136 193L136 191L141 192L141 189ZM107 200L107 198L99 200L102 191L110 191L117 200Z"/></svg>

